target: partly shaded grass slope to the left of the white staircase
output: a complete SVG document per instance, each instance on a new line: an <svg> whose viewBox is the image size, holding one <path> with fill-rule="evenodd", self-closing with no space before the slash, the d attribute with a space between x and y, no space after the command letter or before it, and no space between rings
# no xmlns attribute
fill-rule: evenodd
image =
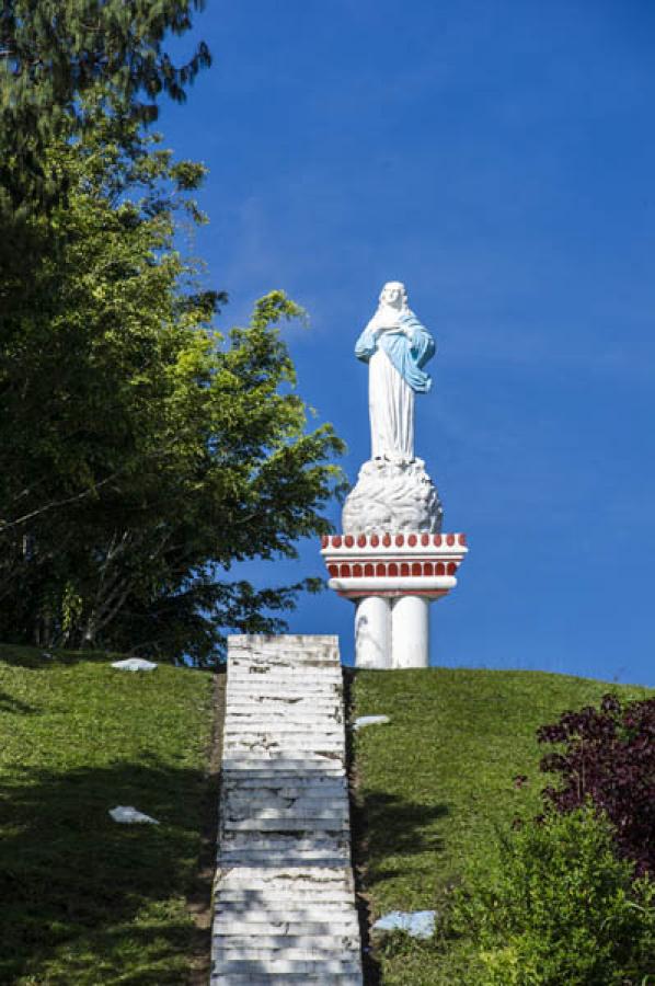
<svg viewBox="0 0 655 986"><path fill-rule="evenodd" d="M199 672L0 647L2 986L188 982L210 696Z"/></svg>

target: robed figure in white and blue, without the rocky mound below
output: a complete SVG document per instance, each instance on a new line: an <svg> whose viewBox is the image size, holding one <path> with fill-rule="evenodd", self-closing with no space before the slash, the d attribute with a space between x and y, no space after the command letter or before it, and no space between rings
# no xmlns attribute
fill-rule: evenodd
<svg viewBox="0 0 655 986"><path fill-rule="evenodd" d="M355 355L369 366L371 458L403 465L414 460L414 394L430 388L423 367L435 343L410 310L403 284L389 280L379 301Z"/></svg>

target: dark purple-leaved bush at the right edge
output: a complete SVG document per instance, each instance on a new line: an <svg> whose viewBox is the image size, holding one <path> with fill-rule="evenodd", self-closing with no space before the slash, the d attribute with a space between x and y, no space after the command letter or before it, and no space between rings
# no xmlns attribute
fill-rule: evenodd
<svg viewBox="0 0 655 986"><path fill-rule="evenodd" d="M622 703L606 695L599 709L564 712L537 737L563 744L541 760L561 779L544 789L547 803L570 812L590 798L612 823L621 856L637 874L655 874L655 698Z"/></svg>

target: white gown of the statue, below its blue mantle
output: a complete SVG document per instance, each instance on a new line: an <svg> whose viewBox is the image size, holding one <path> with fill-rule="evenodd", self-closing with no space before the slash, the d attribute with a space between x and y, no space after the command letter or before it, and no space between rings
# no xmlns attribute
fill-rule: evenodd
<svg viewBox="0 0 655 986"><path fill-rule="evenodd" d="M414 391L382 348L368 360L371 458L414 458Z"/></svg>

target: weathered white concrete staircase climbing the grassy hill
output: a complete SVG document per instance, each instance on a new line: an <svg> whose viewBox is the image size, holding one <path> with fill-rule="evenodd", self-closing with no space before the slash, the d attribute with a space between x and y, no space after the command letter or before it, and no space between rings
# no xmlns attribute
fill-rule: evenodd
<svg viewBox="0 0 655 986"><path fill-rule="evenodd" d="M360 986L334 637L232 637L211 986Z"/></svg>

